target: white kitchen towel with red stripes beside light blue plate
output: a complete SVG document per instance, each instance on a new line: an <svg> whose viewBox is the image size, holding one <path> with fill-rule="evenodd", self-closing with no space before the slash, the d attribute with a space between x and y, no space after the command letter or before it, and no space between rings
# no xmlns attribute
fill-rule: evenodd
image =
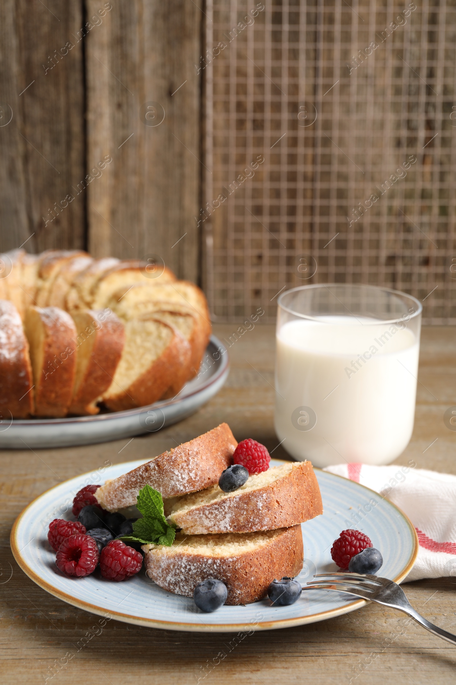
<svg viewBox="0 0 456 685"><path fill-rule="evenodd" d="M416 528L420 548L405 582L456 576L456 476L408 466L337 464L330 471L396 504ZM353 528L356 528L353 525Z"/></svg>

